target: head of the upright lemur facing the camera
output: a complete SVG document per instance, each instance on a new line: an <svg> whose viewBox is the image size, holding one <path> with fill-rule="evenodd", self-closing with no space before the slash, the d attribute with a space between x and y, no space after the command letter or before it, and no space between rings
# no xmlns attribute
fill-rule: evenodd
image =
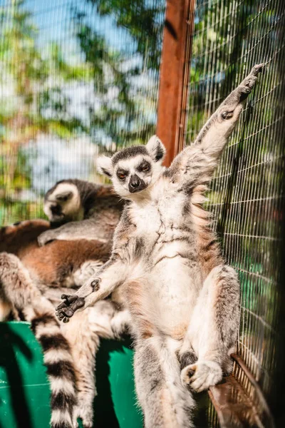
<svg viewBox="0 0 285 428"><path fill-rule="evenodd" d="M112 158L98 158L98 169L108 175L118 195L134 199L147 194L163 167L165 147L157 136L146 146L132 146L115 153Z"/></svg>

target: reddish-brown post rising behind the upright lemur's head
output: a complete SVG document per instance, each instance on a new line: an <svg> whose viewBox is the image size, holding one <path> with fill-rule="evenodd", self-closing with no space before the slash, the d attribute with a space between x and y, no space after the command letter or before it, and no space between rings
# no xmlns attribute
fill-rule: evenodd
<svg viewBox="0 0 285 428"><path fill-rule="evenodd" d="M167 166L184 146L194 12L195 0L167 0L156 129Z"/></svg>

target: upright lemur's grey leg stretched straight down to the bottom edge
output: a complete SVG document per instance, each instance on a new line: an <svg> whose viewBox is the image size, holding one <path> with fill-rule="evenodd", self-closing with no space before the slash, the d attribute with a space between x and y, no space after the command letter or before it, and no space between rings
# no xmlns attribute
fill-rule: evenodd
<svg viewBox="0 0 285 428"><path fill-rule="evenodd" d="M191 413L195 404L190 391L181 384L175 347L175 343L168 343L161 337L137 342L135 387L145 417L145 428L193 426Z"/></svg>

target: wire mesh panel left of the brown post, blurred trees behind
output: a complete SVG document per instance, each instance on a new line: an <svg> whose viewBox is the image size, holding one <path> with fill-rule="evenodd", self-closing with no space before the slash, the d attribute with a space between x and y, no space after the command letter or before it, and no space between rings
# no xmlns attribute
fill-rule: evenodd
<svg viewBox="0 0 285 428"><path fill-rule="evenodd" d="M102 180L98 152L155 132L164 15L164 0L0 0L0 225L43 217L57 180Z"/></svg>

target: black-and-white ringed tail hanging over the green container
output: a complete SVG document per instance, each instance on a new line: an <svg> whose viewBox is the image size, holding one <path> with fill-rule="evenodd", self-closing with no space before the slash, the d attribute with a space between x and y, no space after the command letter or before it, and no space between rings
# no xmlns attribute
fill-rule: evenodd
<svg viewBox="0 0 285 428"><path fill-rule="evenodd" d="M51 427L73 428L76 372L53 305L33 285L28 270L16 255L0 254L0 287L11 305L31 322L31 329L43 348L43 362L51 384Z"/></svg>

